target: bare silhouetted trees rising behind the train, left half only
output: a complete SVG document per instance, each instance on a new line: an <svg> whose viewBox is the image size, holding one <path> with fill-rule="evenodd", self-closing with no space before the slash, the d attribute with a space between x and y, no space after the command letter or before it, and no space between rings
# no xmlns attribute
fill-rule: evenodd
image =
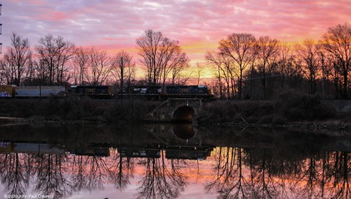
<svg viewBox="0 0 351 199"><path fill-rule="evenodd" d="M116 85L118 90L133 84L164 85L168 76L180 82L189 59L178 41L161 32L145 31L136 40L140 63L147 76L135 81L135 62L128 53L107 55L105 50L76 47L62 36L48 34L34 51L28 39L13 33L11 46L0 60L1 84L13 85Z"/></svg>

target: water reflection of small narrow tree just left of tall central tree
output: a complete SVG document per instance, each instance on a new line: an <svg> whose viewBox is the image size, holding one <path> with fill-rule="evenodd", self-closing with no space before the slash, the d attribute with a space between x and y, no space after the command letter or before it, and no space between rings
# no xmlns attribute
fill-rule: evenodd
<svg viewBox="0 0 351 199"><path fill-rule="evenodd" d="M109 170L110 181L117 190L124 190L133 178L134 159L122 158L117 149L112 149L111 155L113 163Z"/></svg>

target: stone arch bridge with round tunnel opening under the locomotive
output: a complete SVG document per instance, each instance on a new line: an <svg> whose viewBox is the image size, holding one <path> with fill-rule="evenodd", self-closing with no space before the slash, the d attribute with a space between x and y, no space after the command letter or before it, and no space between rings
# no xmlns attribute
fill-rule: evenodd
<svg viewBox="0 0 351 199"><path fill-rule="evenodd" d="M167 99L159 107L150 111L145 116L146 121L154 122L187 122L191 123L196 118L202 107L199 98L174 98Z"/></svg>

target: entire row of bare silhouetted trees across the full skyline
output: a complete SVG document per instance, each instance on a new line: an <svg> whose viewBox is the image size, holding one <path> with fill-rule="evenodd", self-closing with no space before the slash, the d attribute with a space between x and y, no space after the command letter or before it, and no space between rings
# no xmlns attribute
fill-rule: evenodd
<svg viewBox="0 0 351 199"><path fill-rule="evenodd" d="M291 44L233 33L219 41L205 59L213 69L211 88L220 99L271 99L282 90L319 94L323 99L350 98L351 25L329 27L319 41ZM135 61L121 51L107 55L95 47L76 47L61 36L39 39L34 51L28 39L13 33L0 60L1 84L116 85L185 84L192 76L189 58L179 42L151 29L136 39L145 77L135 80ZM198 66L197 83L201 68Z"/></svg>

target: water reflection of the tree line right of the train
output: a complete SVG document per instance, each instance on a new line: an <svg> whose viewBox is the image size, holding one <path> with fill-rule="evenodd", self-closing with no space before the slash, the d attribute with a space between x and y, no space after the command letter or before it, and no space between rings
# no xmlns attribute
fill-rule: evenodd
<svg viewBox="0 0 351 199"><path fill-rule="evenodd" d="M218 198L350 198L350 153L284 158L272 149L219 147L206 191Z"/></svg>

